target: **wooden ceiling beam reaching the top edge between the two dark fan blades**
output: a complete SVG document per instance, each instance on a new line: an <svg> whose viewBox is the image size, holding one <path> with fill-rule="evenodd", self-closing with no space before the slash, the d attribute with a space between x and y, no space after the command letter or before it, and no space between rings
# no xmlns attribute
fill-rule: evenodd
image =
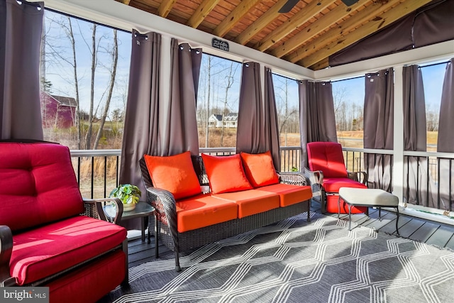
<svg viewBox="0 0 454 303"><path fill-rule="evenodd" d="M267 50L277 41L285 38L289 33L302 26L304 23L313 18L317 13L323 11L328 6L336 2L336 0L326 0L318 5L319 1L311 1L310 4L304 6L303 9L295 13L292 17L288 18L281 26L269 33L263 40L254 45L254 48L261 52Z"/></svg>

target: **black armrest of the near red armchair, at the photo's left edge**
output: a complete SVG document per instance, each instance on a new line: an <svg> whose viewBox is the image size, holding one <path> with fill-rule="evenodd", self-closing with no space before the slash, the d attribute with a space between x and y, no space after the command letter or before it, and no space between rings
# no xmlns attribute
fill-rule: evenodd
<svg viewBox="0 0 454 303"><path fill-rule="evenodd" d="M6 225L0 225L0 287L16 285L16 279L11 277L9 262L13 252L13 233Z"/></svg>

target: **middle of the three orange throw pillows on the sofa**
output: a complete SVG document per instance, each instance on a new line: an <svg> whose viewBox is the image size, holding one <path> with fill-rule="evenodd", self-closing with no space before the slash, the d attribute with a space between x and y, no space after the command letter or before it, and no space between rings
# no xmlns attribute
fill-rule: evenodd
<svg viewBox="0 0 454 303"><path fill-rule="evenodd" d="M240 155L205 155L204 160L206 175L211 187L211 192L238 192L252 189L243 169Z"/></svg>

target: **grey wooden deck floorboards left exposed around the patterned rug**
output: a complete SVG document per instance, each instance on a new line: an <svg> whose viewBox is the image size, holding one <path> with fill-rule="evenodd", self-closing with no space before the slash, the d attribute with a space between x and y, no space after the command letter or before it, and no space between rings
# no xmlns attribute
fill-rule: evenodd
<svg viewBox="0 0 454 303"><path fill-rule="evenodd" d="M320 212L320 204L312 202L311 211ZM337 214L327 214L337 218ZM348 215L341 214L341 218L348 220ZM369 216L365 214L353 214L352 221L362 226L375 228L386 233L396 233L396 214L391 211L382 211L382 220L378 218L377 209L369 209ZM427 221L412 216L399 216L399 233L404 238L421 241L441 248L454 250L454 226L441 224L435 221ZM155 239L151 243L142 242L140 238L133 239L128 243L129 267L155 260ZM159 246L160 256L172 254L165 246Z"/></svg>

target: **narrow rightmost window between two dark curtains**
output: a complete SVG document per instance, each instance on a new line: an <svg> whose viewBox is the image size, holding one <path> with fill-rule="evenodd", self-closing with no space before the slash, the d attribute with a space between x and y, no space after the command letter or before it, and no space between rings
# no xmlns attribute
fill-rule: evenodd
<svg viewBox="0 0 454 303"><path fill-rule="evenodd" d="M446 63L421 67L426 101L427 151L437 150L438 118Z"/></svg>

